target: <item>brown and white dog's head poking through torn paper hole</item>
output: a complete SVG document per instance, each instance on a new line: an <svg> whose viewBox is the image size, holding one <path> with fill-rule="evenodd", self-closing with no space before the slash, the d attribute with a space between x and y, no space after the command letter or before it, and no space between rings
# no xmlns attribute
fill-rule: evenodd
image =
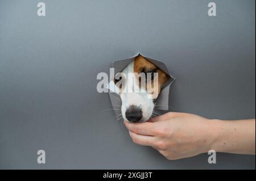
<svg viewBox="0 0 256 181"><path fill-rule="evenodd" d="M141 73L145 75L146 83L144 84L141 77L138 77L138 74L141 75ZM163 70L138 54L133 62L114 78L114 83L119 88L118 94L122 100L123 119L134 123L143 123L150 119L161 87L170 78ZM151 81L148 81L150 79ZM131 91L124 91L127 89Z"/></svg>

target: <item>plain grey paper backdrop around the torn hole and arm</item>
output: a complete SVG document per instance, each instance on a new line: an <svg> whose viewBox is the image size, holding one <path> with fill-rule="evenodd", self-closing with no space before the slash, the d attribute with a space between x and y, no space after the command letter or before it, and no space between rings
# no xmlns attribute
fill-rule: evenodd
<svg viewBox="0 0 256 181"><path fill-rule="evenodd" d="M176 81L171 111L255 118L255 1L0 1L0 169L255 169L255 156L168 161L135 145L96 75L141 52ZM46 151L46 164L36 162Z"/></svg>

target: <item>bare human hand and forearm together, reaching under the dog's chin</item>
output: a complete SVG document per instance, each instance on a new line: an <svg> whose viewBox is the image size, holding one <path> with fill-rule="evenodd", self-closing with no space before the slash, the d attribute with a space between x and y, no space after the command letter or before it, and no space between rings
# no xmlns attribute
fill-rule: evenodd
<svg viewBox="0 0 256 181"><path fill-rule="evenodd" d="M209 120L168 112L146 123L124 123L136 144L152 146L167 159L192 157L212 149L255 154L255 120Z"/></svg>

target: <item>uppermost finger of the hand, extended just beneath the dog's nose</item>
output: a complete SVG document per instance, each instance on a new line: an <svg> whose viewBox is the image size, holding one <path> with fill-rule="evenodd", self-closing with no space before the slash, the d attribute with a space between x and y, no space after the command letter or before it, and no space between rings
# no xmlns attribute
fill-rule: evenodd
<svg viewBox="0 0 256 181"><path fill-rule="evenodd" d="M154 136L154 123L129 123L128 121L124 121L124 123L131 132L144 136Z"/></svg>

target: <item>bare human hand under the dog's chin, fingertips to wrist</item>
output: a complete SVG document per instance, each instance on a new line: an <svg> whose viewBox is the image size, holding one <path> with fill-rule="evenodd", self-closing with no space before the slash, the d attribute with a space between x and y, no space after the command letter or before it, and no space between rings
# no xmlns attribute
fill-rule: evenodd
<svg viewBox="0 0 256 181"><path fill-rule="evenodd" d="M204 117L168 112L149 121L125 121L125 125L135 143L152 146L168 159L192 157L210 149L212 140Z"/></svg>

